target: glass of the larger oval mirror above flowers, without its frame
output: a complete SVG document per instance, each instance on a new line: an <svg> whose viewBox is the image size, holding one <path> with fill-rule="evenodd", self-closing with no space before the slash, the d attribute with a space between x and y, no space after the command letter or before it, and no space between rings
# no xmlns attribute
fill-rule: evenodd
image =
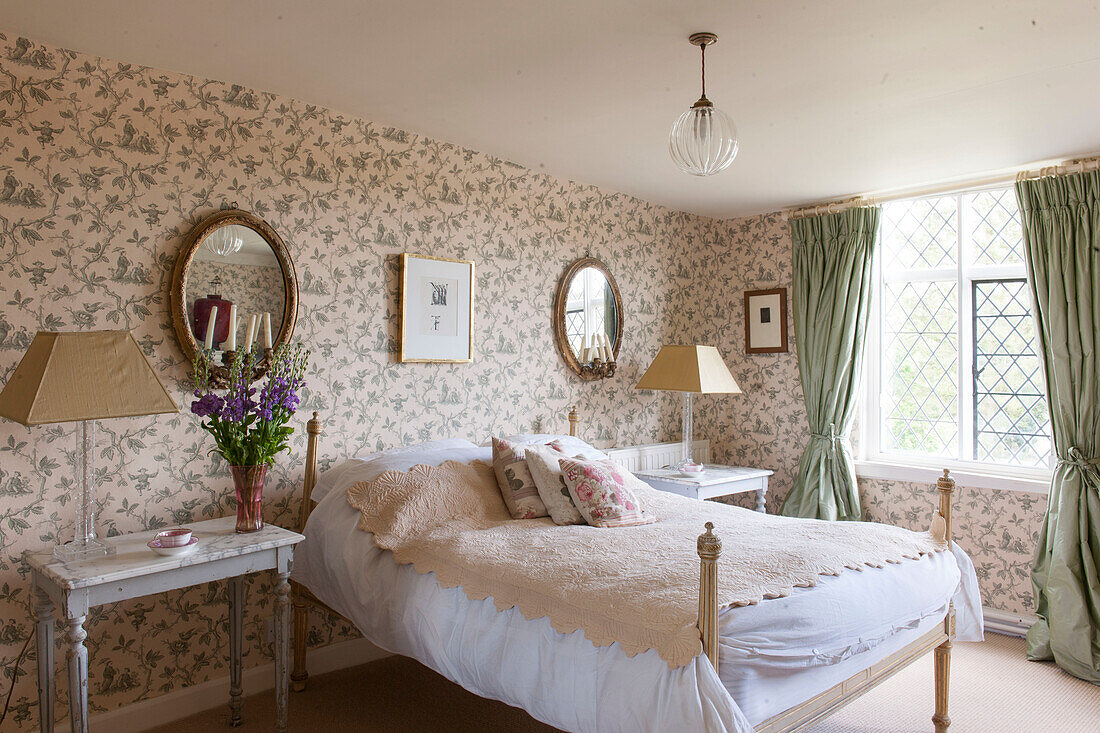
<svg viewBox="0 0 1100 733"><path fill-rule="evenodd" d="M274 342L283 329L286 306L283 269L260 232L242 225L217 227L204 238L187 269L184 297L188 324L198 343L207 340L213 316L210 340L216 352L244 348L250 316L257 318L253 333L254 343L261 348ZM233 306L237 306L237 329L231 333ZM271 321L270 335L265 318Z"/></svg>

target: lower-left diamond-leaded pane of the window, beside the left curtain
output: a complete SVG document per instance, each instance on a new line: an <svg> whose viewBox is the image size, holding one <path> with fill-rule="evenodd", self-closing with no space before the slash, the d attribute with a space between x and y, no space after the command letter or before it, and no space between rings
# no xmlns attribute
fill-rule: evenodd
<svg viewBox="0 0 1100 733"><path fill-rule="evenodd" d="M887 282L884 295L882 446L957 457L956 282Z"/></svg>

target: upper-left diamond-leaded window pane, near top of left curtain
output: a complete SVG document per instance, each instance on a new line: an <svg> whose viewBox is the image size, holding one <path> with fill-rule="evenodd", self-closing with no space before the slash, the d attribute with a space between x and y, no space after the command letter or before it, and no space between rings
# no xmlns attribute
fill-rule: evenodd
<svg viewBox="0 0 1100 733"><path fill-rule="evenodd" d="M955 196L890 201L882 206L887 271L954 267L958 250Z"/></svg>

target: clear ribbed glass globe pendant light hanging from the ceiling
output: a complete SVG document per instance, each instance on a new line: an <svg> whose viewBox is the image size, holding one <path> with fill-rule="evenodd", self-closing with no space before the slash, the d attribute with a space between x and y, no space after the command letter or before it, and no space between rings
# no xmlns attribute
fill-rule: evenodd
<svg viewBox="0 0 1100 733"><path fill-rule="evenodd" d="M669 154L684 173L710 176L725 171L737 157L737 128L728 114L706 98L706 47L717 43L718 36L693 33L688 41L700 48L703 94L672 125Z"/></svg>

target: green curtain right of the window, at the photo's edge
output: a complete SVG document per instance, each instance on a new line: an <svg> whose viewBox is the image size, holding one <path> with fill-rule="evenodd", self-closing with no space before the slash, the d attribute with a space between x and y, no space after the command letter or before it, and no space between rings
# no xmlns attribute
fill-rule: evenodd
<svg viewBox="0 0 1100 733"><path fill-rule="evenodd" d="M1058 457L1027 658L1100 683L1100 172L1021 180L1016 196Z"/></svg>

